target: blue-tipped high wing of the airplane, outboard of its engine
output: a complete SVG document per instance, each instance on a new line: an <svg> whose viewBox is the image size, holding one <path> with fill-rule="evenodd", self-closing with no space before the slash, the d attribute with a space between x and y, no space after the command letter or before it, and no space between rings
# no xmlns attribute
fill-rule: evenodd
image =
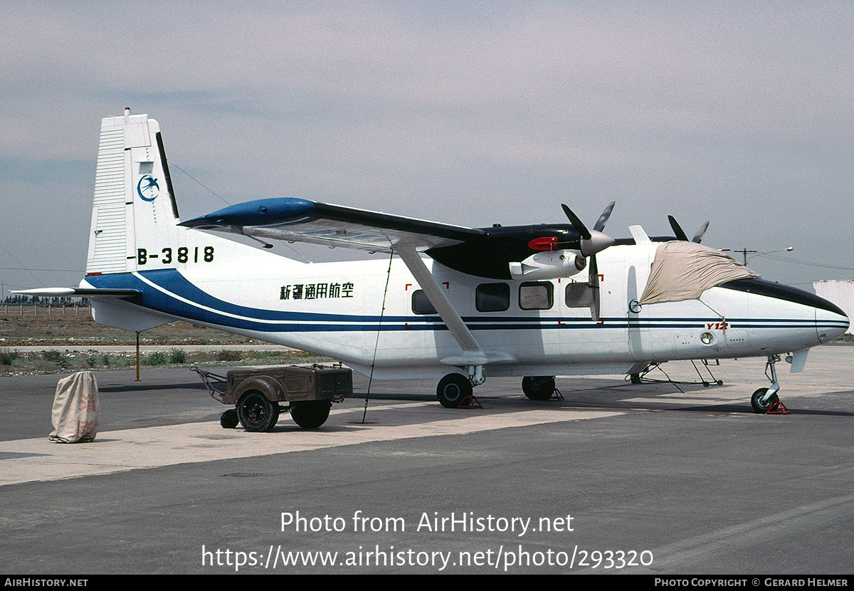
<svg viewBox="0 0 854 591"><path fill-rule="evenodd" d="M197 230L231 231L260 240L287 240L387 253L404 246L419 251L452 246L485 233L458 225L295 197L239 203L188 219L180 225Z"/></svg>

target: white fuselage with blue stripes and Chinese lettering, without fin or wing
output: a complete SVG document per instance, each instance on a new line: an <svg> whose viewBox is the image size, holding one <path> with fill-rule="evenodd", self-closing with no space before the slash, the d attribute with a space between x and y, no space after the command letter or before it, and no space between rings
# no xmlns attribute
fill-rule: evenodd
<svg viewBox="0 0 854 591"><path fill-rule="evenodd" d="M766 356L822 342L816 313L819 320L832 313L775 297L714 287L699 300L639 307L655 248L613 246L599 255L599 323L588 306L567 296L573 282L587 282L587 272L502 281L424 262L488 354L484 371L491 376L627 373L658 360ZM215 267L189 257L183 268L138 266L137 272L87 278L86 284L143 291L133 303L94 302L96 319L104 324L116 325L109 320L133 310L328 355L364 373L373 366L374 377L453 371L441 360L458 355L459 345L436 313L413 311L419 287L401 260L301 264L264 255L262 264ZM281 266L275 264L279 258ZM477 288L484 284L506 284L500 288L506 290L506 309L478 310ZM545 296L529 299L524 284Z"/></svg>

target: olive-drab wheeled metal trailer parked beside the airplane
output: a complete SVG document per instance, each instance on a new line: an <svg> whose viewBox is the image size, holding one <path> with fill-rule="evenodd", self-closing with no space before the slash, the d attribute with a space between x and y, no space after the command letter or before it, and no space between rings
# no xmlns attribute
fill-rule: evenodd
<svg viewBox="0 0 854 591"><path fill-rule="evenodd" d="M252 367L231 370L225 377L192 369L213 398L236 406L222 413L220 424L225 428L239 421L248 431L272 430L284 410L296 424L313 429L326 422L332 402L353 395L353 370L343 366ZM214 383L225 384L225 390Z"/></svg>

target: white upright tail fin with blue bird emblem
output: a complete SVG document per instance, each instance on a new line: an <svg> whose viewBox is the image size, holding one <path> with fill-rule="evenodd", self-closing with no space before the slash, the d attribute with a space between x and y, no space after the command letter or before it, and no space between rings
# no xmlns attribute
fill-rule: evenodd
<svg viewBox="0 0 854 591"><path fill-rule="evenodd" d="M176 243L178 208L157 121L105 117L98 145L86 272L137 270L137 237Z"/></svg>

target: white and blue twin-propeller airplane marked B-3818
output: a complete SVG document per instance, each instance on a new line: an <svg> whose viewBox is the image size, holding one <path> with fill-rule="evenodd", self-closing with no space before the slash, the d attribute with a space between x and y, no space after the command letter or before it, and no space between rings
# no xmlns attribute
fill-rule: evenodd
<svg viewBox="0 0 854 591"><path fill-rule="evenodd" d="M98 323L127 331L185 320L377 379L436 379L444 407L488 376L522 377L529 399L548 400L555 376L764 357L770 385L751 403L766 413L781 355L799 372L847 330L830 301L701 244L708 224L692 240L672 216L675 237L607 236L613 206L592 230L565 205L568 224L469 228L294 197L182 221L160 126L126 108L101 124L85 278L19 293L87 297ZM389 256L304 263L272 240Z"/></svg>

